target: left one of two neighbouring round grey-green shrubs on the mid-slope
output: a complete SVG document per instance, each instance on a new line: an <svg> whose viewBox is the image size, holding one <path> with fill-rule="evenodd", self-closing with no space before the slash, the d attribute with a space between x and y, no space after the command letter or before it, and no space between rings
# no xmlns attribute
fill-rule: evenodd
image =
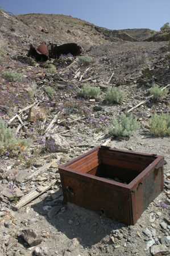
<svg viewBox="0 0 170 256"><path fill-rule="evenodd" d="M85 99L97 99L101 90L97 86L89 86L85 85L82 89L78 92L78 96L85 98Z"/></svg>

